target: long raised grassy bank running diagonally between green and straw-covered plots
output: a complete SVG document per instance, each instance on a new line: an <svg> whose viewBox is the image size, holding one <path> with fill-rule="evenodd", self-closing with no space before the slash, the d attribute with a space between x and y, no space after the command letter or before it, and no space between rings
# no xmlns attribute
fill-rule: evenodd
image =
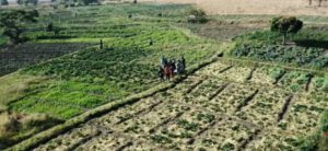
<svg viewBox="0 0 328 151"><path fill-rule="evenodd" d="M163 83L163 84L160 84L155 88L152 88L152 89L149 89L144 92L141 92L141 93L138 93L138 94L133 94L133 95L130 95L126 98L122 98L122 100L118 100L118 101L114 101L114 102L110 102L108 104L105 104L105 105L102 105L102 106L98 106L94 109L91 109L91 111L87 111L79 116L75 116L69 120L67 120L66 123L61 124L61 125L57 125L50 129L47 129L45 131L42 131L33 137L31 137L30 139L27 140L24 140L9 149L5 149L5 151L25 151L25 150L32 150L36 147L38 147L39 144L42 143L45 143L47 141L49 141L50 139L61 135L61 133L65 133L67 131L69 131L70 129L81 125L81 124L84 124L86 121L89 121L90 119L92 118L95 118L95 117L98 117L98 116L102 116L104 114L107 114L112 111L115 111L117 108L120 108L125 105L128 105L128 104L133 104L136 102L138 102L139 100L141 98L144 98L144 97L149 97L149 96L152 96L159 92L163 92L163 91L166 91L168 89L172 89L174 88L176 84L180 83L181 81L184 81L185 79L188 78L189 74L192 74L194 72L196 72L197 70L212 63L212 62L215 62L219 60L219 56L221 56L220 54L222 54L222 51L220 53L216 53L213 57L211 57L210 59L207 59L207 60L203 60L199 63L195 63L192 66L190 66L187 70L187 73L186 76L183 76L183 77L177 77L174 81L172 82L168 82L168 83Z"/></svg>

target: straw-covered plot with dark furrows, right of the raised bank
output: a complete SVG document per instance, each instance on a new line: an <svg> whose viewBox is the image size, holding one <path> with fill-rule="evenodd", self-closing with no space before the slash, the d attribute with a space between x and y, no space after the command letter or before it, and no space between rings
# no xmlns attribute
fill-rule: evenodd
<svg viewBox="0 0 328 151"><path fill-rule="evenodd" d="M315 86L289 89L293 70L274 82L271 68L215 61L34 150L296 150L316 130L328 96Z"/></svg>

